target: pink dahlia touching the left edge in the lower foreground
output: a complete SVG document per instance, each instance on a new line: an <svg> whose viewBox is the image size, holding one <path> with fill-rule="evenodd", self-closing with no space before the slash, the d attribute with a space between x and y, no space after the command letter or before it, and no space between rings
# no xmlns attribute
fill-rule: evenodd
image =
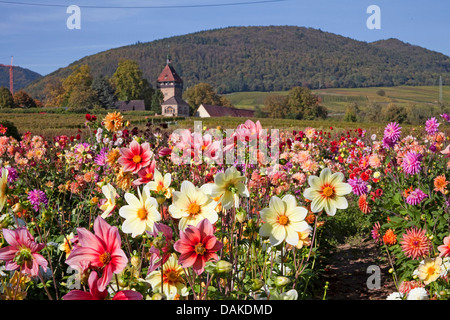
<svg viewBox="0 0 450 320"><path fill-rule="evenodd" d="M39 251L45 248L45 243L37 243L25 227L16 230L3 229L3 238L9 246L0 249L0 260L6 262L6 270L19 269L22 273L37 276L39 266L47 270L47 260Z"/></svg>

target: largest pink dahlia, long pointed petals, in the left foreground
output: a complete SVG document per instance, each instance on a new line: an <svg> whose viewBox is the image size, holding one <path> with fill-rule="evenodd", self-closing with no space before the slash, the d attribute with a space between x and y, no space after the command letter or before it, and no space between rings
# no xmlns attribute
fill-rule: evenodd
<svg viewBox="0 0 450 320"><path fill-rule="evenodd" d="M102 272L98 279L98 290L104 291L112 279L113 273L120 273L127 265L128 259L121 249L121 239L117 227L111 227L102 217L94 221L92 234L85 228L78 228L78 247L73 249L66 263L73 268L89 268Z"/></svg>

